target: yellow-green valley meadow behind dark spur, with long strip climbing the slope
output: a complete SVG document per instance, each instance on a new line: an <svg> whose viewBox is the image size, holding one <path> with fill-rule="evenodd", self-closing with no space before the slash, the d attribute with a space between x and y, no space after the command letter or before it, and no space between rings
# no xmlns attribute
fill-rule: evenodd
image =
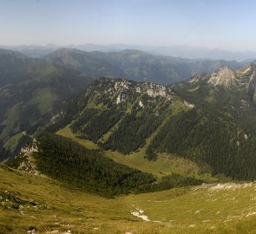
<svg viewBox="0 0 256 234"><path fill-rule="evenodd" d="M161 126L158 127L154 133L150 135L150 137L146 140L145 145L142 146L134 153L130 153L129 155L124 155L117 151L104 151L104 154L111 159L114 159L116 162L121 163L126 166L130 166L136 169L141 170L142 172L153 173L157 177L166 176L171 173L180 173L181 175L189 175L198 177L200 169L196 166L192 161L188 159L182 159L181 157L175 157L174 155L161 153L158 155L158 159L156 161L149 161L145 159L146 148L160 131L161 127L164 127L167 120L173 114L179 114L181 111L186 111L189 109L182 101L177 100L173 101L170 110L167 112L167 116L162 121ZM118 125L118 124L117 124ZM116 126L115 126L116 127ZM109 133L115 128L113 127L108 133L103 135L101 140L105 140L108 138ZM85 146L89 149L97 149L98 146L90 141L90 140L82 140L79 139L74 133L72 133L70 129L70 125L62 128L62 130L58 131L57 134L67 137L71 140L76 141L82 146ZM203 175L207 177L208 175ZM201 175L200 175L201 178Z"/></svg>

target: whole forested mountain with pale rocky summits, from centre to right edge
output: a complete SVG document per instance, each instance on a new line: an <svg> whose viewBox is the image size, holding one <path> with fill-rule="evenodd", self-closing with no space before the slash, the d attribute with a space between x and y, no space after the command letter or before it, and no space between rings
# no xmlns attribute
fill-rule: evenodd
<svg viewBox="0 0 256 234"><path fill-rule="evenodd" d="M205 172L253 180L255 78L255 63L172 87L103 78L70 101L55 129L70 124L77 136L105 150L146 148L148 159L171 153Z"/></svg>

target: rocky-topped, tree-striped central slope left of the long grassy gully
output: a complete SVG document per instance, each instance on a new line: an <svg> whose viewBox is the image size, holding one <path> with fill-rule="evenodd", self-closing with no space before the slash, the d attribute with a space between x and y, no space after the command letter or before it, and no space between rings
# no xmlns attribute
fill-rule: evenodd
<svg viewBox="0 0 256 234"><path fill-rule="evenodd" d="M70 101L62 120L81 138L131 153L161 125L170 103L181 103L169 88L154 83L102 78Z"/></svg>

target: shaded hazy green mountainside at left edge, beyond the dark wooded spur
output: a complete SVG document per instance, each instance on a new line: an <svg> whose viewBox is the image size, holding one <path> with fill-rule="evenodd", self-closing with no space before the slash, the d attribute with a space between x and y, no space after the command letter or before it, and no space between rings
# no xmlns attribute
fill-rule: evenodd
<svg viewBox="0 0 256 234"><path fill-rule="evenodd" d="M85 88L89 81L92 79L73 70L2 49L0 160L15 153L16 147L10 150L10 145L26 142L27 135L48 123L62 101ZM12 138L15 135L16 140Z"/></svg>

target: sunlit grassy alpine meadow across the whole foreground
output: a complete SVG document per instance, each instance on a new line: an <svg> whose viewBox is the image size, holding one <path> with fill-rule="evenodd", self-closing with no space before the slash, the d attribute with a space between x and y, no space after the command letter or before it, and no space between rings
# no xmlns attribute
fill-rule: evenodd
<svg viewBox="0 0 256 234"><path fill-rule="evenodd" d="M0 169L0 233L255 233L256 185L221 184L102 198Z"/></svg>

